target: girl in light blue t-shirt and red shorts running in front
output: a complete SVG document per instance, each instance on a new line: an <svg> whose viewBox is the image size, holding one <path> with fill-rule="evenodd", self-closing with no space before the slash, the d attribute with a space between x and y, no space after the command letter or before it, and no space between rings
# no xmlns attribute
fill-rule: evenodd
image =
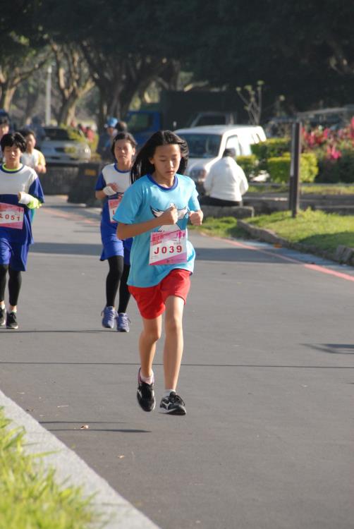
<svg viewBox="0 0 354 529"><path fill-rule="evenodd" d="M128 285L143 324L138 403L144 411L152 411L155 406L152 362L166 311L165 394L159 411L171 415L186 413L185 403L176 394L183 354L183 308L195 260L186 226L188 217L197 226L203 217L195 183L183 176L187 162L185 140L169 130L154 133L135 159L133 186L114 214L118 237L134 238Z"/></svg>

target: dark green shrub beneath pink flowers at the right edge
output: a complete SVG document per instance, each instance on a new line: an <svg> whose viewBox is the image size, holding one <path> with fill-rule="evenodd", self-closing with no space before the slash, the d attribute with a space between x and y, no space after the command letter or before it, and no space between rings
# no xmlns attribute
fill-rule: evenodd
<svg viewBox="0 0 354 529"><path fill-rule="evenodd" d="M341 158L319 160L319 183L354 182L354 150L343 150Z"/></svg>

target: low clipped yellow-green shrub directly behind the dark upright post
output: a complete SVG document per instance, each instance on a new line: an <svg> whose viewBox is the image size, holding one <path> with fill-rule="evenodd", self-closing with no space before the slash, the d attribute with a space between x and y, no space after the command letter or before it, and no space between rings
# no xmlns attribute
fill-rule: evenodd
<svg viewBox="0 0 354 529"><path fill-rule="evenodd" d="M290 178L290 152L268 159L268 171L272 182L286 183ZM318 172L315 154L305 153L300 157L300 182L313 182Z"/></svg>

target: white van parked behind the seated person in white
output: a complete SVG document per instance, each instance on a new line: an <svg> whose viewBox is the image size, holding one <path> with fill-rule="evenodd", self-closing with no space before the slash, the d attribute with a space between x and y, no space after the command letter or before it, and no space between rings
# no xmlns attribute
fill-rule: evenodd
<svg viewBox="0 0 354 529"><path fill-rule="evenodd" d="M266 135L260 126L212 125L180 128L176 134L184 138L189 147L186 174L193 178L200 193L210 167L222 157L226 148L233 148L238 156L251 153L251 145L265 141Z"/></svg>

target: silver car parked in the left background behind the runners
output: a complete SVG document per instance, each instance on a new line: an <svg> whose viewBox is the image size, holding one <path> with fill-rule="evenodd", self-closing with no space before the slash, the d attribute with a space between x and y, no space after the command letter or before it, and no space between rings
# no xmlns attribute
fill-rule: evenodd
<svg viewBox="0 0 354 529"><path fill-rule="evenodd" d="M91 150L81 130L44 127L44 133L38 148L47 164L78 165L90 162Z"/></svg>

